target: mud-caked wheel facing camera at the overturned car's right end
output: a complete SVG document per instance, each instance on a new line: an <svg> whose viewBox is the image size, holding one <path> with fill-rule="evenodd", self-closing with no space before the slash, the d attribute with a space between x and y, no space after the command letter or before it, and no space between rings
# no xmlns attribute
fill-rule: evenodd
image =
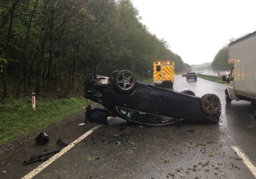
<svg viewBox="0 0 256 179"><path fill-rule="evenodd" d="M215 94L204 94L200 98L200 104L206 114L216 114L220 110L220 98Z"/></svg>

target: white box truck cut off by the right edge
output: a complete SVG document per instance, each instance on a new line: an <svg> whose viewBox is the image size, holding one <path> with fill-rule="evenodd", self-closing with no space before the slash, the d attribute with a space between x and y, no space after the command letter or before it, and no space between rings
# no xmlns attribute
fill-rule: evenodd
<svg viewBox="0 0 256 179"><path fill-rule="evenodd" d="M256 118L256 32L228 45L228 64L233 64L227 81L226 102L250 101Z"/></svg>

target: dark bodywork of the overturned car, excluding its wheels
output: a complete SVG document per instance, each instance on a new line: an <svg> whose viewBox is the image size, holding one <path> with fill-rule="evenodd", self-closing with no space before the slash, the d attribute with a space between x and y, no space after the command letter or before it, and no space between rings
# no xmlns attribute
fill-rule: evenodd
<svg viewBox="0 0 256 179"><path fill-rule="evenodd" d="M202 113L199 97L141 82L136 83L132 92L121 94L114 89L111 79L109 79L108 85L98 85L92 79L92 77L87 78L84 97L102 104L106 110L92 109L87 112L86 116L90 118L90 122L99 123L98 120L102 115L103 122L100 124L106 124L107 114L153 126L166 125L184 119L201 122L211 120L211 117ZM97 117L92 117L92 113ZM124 113L130 117L125 116ZM216 114L218 118L220 113Z"/></svg>

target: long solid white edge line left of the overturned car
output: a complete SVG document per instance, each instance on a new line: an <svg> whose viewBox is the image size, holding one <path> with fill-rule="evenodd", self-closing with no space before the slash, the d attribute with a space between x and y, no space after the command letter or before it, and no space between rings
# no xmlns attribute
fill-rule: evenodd
<svg viewBox="0 0 256 179"><path fill-rule="evenodd" d="M112 118L108 117L108 120ZM50 157L50 159L48 159L47 161L45 161L44 163L42 163L41 165L39 165L38 167L36 167L34 170L30 171L30 173L28 173L26 176L22 177L22 179L32 179L35 175L37 175L38 173L40 173L43 169L45 169L46 167L48 167L52 162L54 162L56 159L58 159L59 157L61 157L64 153L66 153L69 149L73 148L78 142L81 142L84 138L86 138L87 136L89 136L90 134L92 134L92 132L94 132L96 129L98 129L101 125L96 125L93 128L91 128L89 131L87 131L86 133L84 133L82 136L80 136L79 138L77 138L74 142L72 142L71 144L69 144L68 146L66 146L65 148L63 148L59 153L56 153L55 155L53 155L52 157Z"/></svg>

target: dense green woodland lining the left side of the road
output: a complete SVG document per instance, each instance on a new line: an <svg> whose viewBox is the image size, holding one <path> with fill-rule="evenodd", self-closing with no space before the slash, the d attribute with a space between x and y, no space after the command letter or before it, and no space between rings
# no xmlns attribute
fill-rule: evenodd
<svg viewBox="0 0 256 179"><path fill-rule="evenodd" d="M164 26L164 24L163 24ZM86 75L128 69L146 77L153 62L189 68L140 22L130 0L1 0L0 94L70 94Z"/></svg>

